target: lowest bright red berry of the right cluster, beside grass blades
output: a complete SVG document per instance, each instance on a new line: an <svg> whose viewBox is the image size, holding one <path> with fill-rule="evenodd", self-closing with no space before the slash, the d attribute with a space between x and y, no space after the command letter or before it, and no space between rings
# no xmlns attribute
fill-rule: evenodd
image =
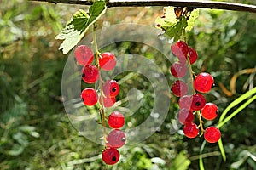
<svg viewBox="0 0 256 170"><path fill-rule="evenodd" d="M221 136L221 133L217 127L207 127L204 133L204 138L209 143L218 142L218 139L220 139L220 136Z"/></svg>

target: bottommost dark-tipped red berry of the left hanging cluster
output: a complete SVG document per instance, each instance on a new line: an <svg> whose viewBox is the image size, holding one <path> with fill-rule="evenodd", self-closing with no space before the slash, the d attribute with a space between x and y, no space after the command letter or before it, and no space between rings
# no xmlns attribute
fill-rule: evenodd
<svg viewBox="0 0 256 170"><path fill-rule="evenodd" d="M102 160L108 164L113 165L119 161L119 150L115 148L107 148L102 152Z"/></svg>

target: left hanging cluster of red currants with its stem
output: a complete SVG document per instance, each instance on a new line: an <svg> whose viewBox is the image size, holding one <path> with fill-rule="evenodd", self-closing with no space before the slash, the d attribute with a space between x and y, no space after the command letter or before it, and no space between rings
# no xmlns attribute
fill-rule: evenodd
<svg viewBox="0 0 256 170"><path fill-rule="evenodd" d="M78 65L83 65L82 79L86 83L95 83L99 81L99 89L85 88L81 93L81 99L84 105L92 106L98 102L104 108L111 107L116 102L116 96L119 94L119 83L115 80L107 80L103 82L100 75L100 70L111 71L116 65L116 58L112 53L97 54L96 64L92 65L94 54L92 50L85 45L80 45L75 49L75 59ZM101 114L102 116L102 114ZM102 117L102 125L105 126L105 117ZM126 136L119 128L125 124L125 117L118 111L113 111L108 116L108 126L113 130L105 137L105 149L102 151L102 160L113 165L119 161L119 150L125 144ZM106 127L104 127L106 128ZM104 130L105 132L105 130Z"/></svg>

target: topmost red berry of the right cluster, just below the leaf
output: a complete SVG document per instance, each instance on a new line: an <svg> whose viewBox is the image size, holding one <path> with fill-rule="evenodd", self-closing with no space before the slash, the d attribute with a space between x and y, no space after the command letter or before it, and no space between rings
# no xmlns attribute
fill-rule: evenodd
<svg viewBox="0 0 256 170"><path fill-rule="evenodd" d="M189 48L186 42L178 41L171 46L172 54L176 55L181 63L187 62Z"/></svg>

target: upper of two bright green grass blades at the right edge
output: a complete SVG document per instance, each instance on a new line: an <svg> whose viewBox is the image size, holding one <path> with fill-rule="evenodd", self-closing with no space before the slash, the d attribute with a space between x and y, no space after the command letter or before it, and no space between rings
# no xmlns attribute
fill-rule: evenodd
<svg viewBox="0 0 256 170"><path fill-rule="evenodd" d="M218 122L223 122L224 117L226 116L226 114L228 113L228 111L230 111L230 109L232 109L233 107L235 107L236 105L240 104L243 100L247 99L248 97L250 97L251 95L256 94L256 88L253 88L252 90L248 91L246 94L242 94L239 98L235 99L232 103L230 103L230 105L223 111L223 113L221 114L221 116L219 117Z"/></svg>

